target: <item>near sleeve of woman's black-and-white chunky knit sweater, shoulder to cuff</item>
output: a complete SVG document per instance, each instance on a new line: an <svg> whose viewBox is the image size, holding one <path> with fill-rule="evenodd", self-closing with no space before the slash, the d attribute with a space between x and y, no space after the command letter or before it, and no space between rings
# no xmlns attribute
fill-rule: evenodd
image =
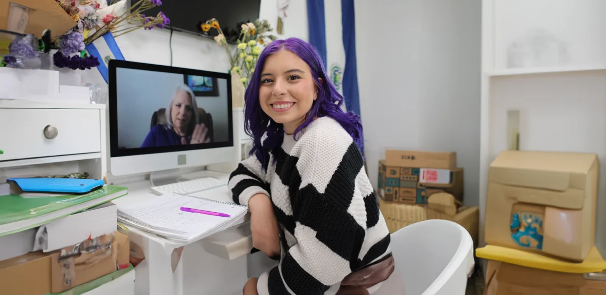
<svg viewBox="0 0 606 295"><path fill-rule="evenodd" d="M380 214L361 153L345 132L305 135L291 152L296 169L287 181L296 244L259 277L260 295L335 294L347 274L368 263L365 234Z"/></svg>

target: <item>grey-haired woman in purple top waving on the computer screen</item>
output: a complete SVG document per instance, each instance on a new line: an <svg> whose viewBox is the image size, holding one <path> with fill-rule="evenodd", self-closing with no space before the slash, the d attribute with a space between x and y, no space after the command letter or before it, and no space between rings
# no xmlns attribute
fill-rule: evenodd
<svg viewBox="0 0 606 295"><path fill-rule="evenodd" d="M210 142L208 128L198 124L196 96L187 85L179 85L166 109L166 124L151 127L141 147L205 144Z"/></svg>

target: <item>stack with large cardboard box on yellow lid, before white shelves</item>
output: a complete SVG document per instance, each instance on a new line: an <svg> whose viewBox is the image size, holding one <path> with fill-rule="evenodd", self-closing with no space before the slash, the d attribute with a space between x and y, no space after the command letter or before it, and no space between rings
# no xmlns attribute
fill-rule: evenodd
<svg viewBox="0 0 606 295"><path fill-rule="evenodd" d="M606 294L595 247L596 154L503 151L488 172L488 295ZM579 274L580 273L580 274Z"/></svg>

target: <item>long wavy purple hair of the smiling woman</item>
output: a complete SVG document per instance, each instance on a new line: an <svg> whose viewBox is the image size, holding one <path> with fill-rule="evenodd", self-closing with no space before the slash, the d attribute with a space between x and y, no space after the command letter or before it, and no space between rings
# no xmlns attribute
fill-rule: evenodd
<svg viewBox="0 0 606 295"><path fill-rule="evenodd" d="M261 71L265 65L265 60L268 56L273 55L282 48L295 53L307 63L311 69L313 82L318 89L318 99L311 105L311 109L305 116L305 121L295 130L293 138L296 139L296 135L314 119L330 117L341 124L362 152L362 124L360 117L351 111L345 112L341 108L343 105L343 96L339 94L335 85L330 81L318 51L311 44L301 39L288 38L273 41L265 47L259 56L255 72L246 89L244 126L246 134L253 139L253 148L250 154L255 154L256 158L261 162L262 167L267 169L269 166L269 154L271 153L274 156L275 161L278 149L281 147L282 141L284 141L284 127L282 124L273 121L270 116L265 114L261 109L261 104L259 104L259 84L261 83ZM261 142L264 134L266 134L267 138Z"/></svg>

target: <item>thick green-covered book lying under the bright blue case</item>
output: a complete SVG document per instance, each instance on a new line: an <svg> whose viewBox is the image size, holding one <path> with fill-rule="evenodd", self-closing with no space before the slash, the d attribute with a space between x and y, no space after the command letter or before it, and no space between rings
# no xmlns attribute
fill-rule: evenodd
<svg viewBox="0 0 606 295"><path fill-rule="evenodd" d="M118 197L128 189L105 185L87 194L52 197L0 196L0 236L18 233L78 213Z"/></svg>

